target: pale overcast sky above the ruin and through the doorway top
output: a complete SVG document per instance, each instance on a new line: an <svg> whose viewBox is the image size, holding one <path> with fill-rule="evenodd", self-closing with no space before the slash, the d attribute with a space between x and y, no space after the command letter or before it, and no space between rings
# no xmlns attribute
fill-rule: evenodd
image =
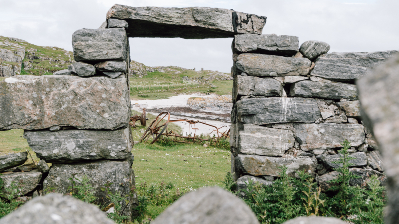
<svg viewBox="0 0 399 224"><path fill-rule="evenodd" d="M98 28L114 4L217 7L267 17L263 34L320 40L330 52L399 50L399 0L0 0L0 35L72 51L72 34ZM130 38L132 60L230 72L227 39Z"/></svg>

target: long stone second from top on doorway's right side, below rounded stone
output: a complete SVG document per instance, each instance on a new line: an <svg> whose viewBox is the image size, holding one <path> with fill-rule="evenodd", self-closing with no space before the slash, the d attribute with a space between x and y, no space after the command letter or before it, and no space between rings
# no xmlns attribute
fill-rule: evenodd
<svg viewBox="0 0 399 224"><path fill-rule="evenodd" d="M307 75L312 62L307 58L287 58L265 54L240 54L236 67L250 76Z"/></svg>

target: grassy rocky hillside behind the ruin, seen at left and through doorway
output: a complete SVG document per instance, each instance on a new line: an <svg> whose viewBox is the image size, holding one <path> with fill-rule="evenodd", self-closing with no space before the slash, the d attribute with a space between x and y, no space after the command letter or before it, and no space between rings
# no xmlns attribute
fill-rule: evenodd
<svg viewBox="0 0 399 224"><path fill-rule="evenodd" d="M11 70L16 65L16 74L21 75L52 75L75 62L71 51L37 46L17 38L0 36L0 50L0 65ZM8 57L1 57L1 52L8 53ZM129 76L131 99L165 99L195 92L231 95L233 85L229 73L177 66L149 67L136 61L131 61ZM4 77L0 77L2 80Z"/></svg>

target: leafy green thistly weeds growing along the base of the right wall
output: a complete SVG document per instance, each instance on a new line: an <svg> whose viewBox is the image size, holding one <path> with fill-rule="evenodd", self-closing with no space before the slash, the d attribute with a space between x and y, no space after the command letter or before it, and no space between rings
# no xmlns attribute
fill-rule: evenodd
<svg viewBox="0 0 399 224"><path fill-rule="evenodd" d="M334 170L338 178L331 191L322 193L314 178L304 172L297 172L298 178L286 174L286 167L281 168L279 178L272 185L261 186L251 180L244 193L243 200L252 209L262 224L280 224L297 216L332 216L349 220L355 224L383 224L383 210L386 203L385 187L381 186L377 176L370 178L367 187L350 186L351 179L359 178L349 172L352 159L348 154L350 144L347 140L339 164ZM232 189L232 175L227 173L225 188Z"/></svg>

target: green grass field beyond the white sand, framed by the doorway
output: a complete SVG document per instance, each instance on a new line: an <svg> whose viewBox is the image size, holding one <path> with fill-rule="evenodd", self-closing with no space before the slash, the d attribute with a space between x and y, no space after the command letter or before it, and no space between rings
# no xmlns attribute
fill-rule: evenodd
<svg viewBox="0 0 399 224"><path fill-rule="evenodd" d="M219 95L231 94L233 87L232 80L213 80L206 84L198 84L195 82L187 82L183 80L183 76L190 78L206 77L209 71L193 71L182 70L179 74L172 72L149 72L143 78L129 78L130 98L132 100L155 100L166 99L178 94L190 93L215 93Z"/></svg>

